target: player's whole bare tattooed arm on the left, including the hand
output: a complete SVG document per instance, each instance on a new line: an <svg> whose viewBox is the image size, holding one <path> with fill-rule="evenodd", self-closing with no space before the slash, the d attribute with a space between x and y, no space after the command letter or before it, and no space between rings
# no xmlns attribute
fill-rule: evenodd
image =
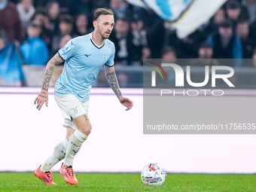
<svg viewBox="0 0 256 192"><path fill-rule="evenodd" d="M50 78L53 75L53 69L55 66L59 65L59 63L63 62L64 60L59 56L59 53L56 53L49 62L47 62L46 70L44 72L44 82L41 87L41 93L35 98L34 104L38 104L36 108L38 110L44 105L48 106L48 87L50 84Z"/></svg>

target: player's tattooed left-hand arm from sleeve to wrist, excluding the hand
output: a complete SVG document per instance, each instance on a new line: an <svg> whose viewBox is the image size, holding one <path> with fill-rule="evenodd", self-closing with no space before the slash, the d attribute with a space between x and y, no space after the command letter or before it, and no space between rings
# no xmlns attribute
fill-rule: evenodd
<svg viewBox="0 0 256 192"><path fill-rule="evenodd" d="M44 72L44 82L41 87L42 90L48 90L50 84L50 78L53 75L53 69L55 66L59 65L59 63L64 60L59 56L59 53L56 53L49 62L47 62L46 70Z"/></svg>

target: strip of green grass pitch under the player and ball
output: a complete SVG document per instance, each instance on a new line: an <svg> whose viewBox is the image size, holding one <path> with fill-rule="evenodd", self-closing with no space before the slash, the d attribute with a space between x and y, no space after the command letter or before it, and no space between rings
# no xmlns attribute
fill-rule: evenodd
<svg viewBox="0 0 256 192"><path fill-rule="evenodd" d="M167 174L160 187L142 183L139 173L76 173L78 185L66 184L56 172L48 186L33 172L0 172L0 191L256 191L256 175Z"/></svg>

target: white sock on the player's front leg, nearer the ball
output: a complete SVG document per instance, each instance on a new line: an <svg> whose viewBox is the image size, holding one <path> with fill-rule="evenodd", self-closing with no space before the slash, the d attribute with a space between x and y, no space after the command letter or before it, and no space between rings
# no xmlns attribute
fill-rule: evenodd
<svg viewBox="0 0 256 192"><path fill-rule="evenodd" d="M81 133L78 130L75 130L75 133L69 139L69 145L66 150L66 157L63 163L63 167L65 166L73 166L73 161L75 155L80 150L82 143L87 139L87 136Z"/></svg>

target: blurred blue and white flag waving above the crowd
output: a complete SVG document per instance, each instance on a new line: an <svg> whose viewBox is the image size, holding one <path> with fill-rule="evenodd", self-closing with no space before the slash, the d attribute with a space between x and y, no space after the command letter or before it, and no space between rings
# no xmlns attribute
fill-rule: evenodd
<svg viewBox="0 0 256 192"><path fill-rule="evenodd" d="M130 4L151 8L184 38L197 30L224 5L227 0L126 0Z"/></svg>

